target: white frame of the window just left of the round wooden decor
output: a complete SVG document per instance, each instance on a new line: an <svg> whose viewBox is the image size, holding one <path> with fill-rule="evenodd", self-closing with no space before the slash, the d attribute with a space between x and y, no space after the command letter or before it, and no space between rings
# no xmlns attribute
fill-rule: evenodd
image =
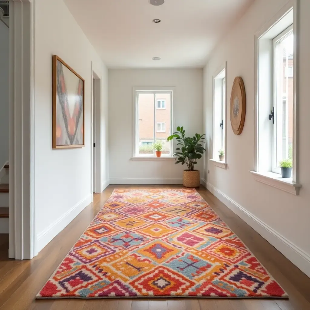
<svg viewBox="0 0 310 310"><path fill-rule="evenodd" d="M212 110L212 144L213 149L211 153L210 161L213 162L215 166L219 166L221 168L226 169L227 167L227 154L226 154L226 134L227 134L227 126L226 126L226 112L227 112L227 83L226 83L226 76L227 76L227 62L225 62L212 76L212 101L213 101L213 110ZM221 122L215 119L215 87L220 87L220 95L221 99L219 100L222 104L222 148L224 150L224 161L219 161L218 149L215 149L215 131L218 130ZM217 128L216 128L217 126ZM221 126L220 126L221 127Z"/></svg>

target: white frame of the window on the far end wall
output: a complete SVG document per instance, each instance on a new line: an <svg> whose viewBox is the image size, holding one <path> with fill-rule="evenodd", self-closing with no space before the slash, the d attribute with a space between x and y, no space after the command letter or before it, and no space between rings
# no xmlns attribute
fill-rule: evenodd
<svg viewBox="0 0 310 310"><path fill-rule="evenodd" d="M141 161L162 161L162 160L175 160L175 157L172 157L174 152L174 141L170 141L170 154L162 154L162 157L156 157L155 151L154 154L139 154L139 122L137 122L139 111L138 111L138 95L139 93L156 93L156 94L166 94L170 93L170 131L168 135L172 135L176 129L175 126L175 114L174 114L174 98L176 94L175 87L145 87L145 86L134 86L133 88L133 119L132 119L132 160L141 160ZM154 124L156 123L156 109L157 109L157 99L154 97ZM155 126L154 126L155 131ZM155 132L154 132L154 142L155 142Z"/></svg>

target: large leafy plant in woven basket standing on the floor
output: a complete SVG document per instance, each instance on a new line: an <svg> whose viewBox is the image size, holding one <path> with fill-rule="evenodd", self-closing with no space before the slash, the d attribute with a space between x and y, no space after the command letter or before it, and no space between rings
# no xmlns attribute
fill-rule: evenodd
<svg viewBox="0 0 310 310"><path fill-rule="evenodd" d="M173 156L178 157L175 164L181 163L186 164L187 168L183 171L183 185L185 187L199 187L200 185L200 171L195 170L194 166L197 164L197 159L202 157L202 154L206 149L202 146L206 140L203 136L196 134L193 138L185 137L185 130L182 127L177 127L177 131L167 138L167 141L175 138L177 140L177 145L180 147L176 148Z"/></svg>

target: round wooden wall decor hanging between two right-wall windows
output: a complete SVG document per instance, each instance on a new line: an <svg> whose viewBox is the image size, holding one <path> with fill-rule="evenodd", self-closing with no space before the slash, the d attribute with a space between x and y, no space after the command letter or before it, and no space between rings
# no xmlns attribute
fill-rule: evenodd
<svg viewBox="0 0 310 310"><path fill-rule="evenodd" d="M240 135L246 119L246 90L241 77L236 77L230 96L230 123L235 135Z"/></svg>

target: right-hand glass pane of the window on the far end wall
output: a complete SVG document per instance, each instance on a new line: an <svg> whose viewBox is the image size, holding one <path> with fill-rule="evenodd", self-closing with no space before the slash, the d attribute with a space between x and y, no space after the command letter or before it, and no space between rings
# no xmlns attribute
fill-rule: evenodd
<svg viewBox="0 0 310 310"><path fill-rule="evenodd" d="M171 135L171 126L170 126L170 106L171 99L170 93L155 94L157 99L161 99L162 109L156 109L156 122L158 124L158 130L161 132L156 132L156 140L161 140L163 144L162 156L169 156L171 154L170 142L167 142L167 138Z"/></svg>

